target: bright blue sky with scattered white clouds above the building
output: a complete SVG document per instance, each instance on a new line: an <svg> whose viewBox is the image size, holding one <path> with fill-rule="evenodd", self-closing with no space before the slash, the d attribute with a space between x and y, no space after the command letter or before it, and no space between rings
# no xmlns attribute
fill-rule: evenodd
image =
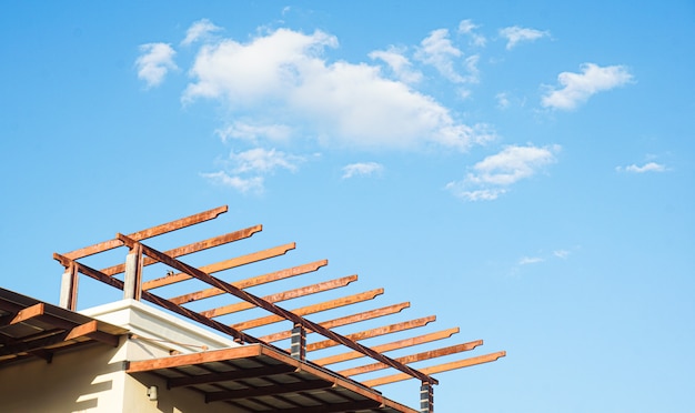
<svg viewBox="0 0 695 413"><path fill-rule="evenodd" d="M695 409L692 1L0 16L3 288L57 302L53 252L229 204L249 248L507 351L439 412Z"/></svg>

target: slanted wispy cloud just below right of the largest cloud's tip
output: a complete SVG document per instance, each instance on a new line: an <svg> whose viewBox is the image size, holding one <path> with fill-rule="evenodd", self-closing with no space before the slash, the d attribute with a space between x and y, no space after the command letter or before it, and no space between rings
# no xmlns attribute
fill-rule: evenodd
<svg viewBox="0 0 695 413"><path fill-rule="evenodd" d="M495 200L507 188L536 174L543 167L555 162L560 145L506 147L500 153L477 162L474 172L462 181L450 182L446 189L454 195L469 201Z"/></svg>

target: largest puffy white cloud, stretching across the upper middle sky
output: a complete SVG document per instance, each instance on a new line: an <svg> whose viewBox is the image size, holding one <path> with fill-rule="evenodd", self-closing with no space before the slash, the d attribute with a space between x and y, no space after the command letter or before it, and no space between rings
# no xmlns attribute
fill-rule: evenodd
<svg viewBox="0 0 695 413"><path fill-rule="evenodd" d="M443 52L434 43L429 50ZM182 99L219 99L232 112L274 113L294 133L339 148L436 144L463 151L494 138L488 127L462 124L432 97L385 79L379 66L328 62L323 50L336 47L338 40L324 32L289 29L243 44L230 39L205 44Z"/></svg>

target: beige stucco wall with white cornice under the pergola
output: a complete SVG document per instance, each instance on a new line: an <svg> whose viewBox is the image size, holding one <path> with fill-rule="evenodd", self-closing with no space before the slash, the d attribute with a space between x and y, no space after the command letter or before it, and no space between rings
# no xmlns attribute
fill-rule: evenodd
<svg viewBox="0 0 695 413"><path fill-rule="evenodd" d="M153 374L130 375L123 369L125 360L238 345L230 339L131 300L84 313L127 328L140 339L123 336L117 349L97 343L57 353L51 363L33 357L0 366L0 412L233 412L229 404L205 404L197 392L167 390ZM149 400L151 385L158 386L157 401Z"/></svg>

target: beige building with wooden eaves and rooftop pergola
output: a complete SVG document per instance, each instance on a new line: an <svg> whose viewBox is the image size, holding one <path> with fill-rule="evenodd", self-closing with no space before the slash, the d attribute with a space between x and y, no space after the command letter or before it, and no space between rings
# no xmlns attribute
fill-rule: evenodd
<svg viewBox="0 0 695 413"><path fill-rule="evenodd" d="M118 234L113 240L70 253L54 254L54 259L64 266L59 305L0 289L0 410L433 412L433 386L439 381L432 374L495 361L505 355L504 352L495 352L422 369L411 366L413 363L429 363L439 356L472 351L482 344L482 340L427 347L426 351L399 357L385 354L412 345L427 345L451 336L457 329L409 336L375 346L360 343L424 326L434 321L434 316L350 334L335 332L340 326L355 328L370 320L397 314L410 303L353 312L320 323L308 319L310 314L371 300L381 295L382 289L293 310L275 304L343 288L355 281L356 275L263 298L246 291L262 284L274 285L271 283L280 280L298 280L300 275L326 265L325 260L229 282L212 275L282 255L294 249L294 243L198 268L180 260L183 255L250 238L262 230L261 225L165 252L143 242L215 219L225 211L226 206L216 208L130 235ZM107 255L105 252L118 248L128 249L123 263L101 270L83 263L87 258L94 261L95 256ZM153 278L150 271L153 269L160 274L167 269L167 274ZM123 300L78 312L80 276L123 290ZM190 284L194 291L184 288L185 293L169 299L155 294L155 291L165 291L173 284ZM197 290L195 286L200 285L204 288ZM205 311L194 308L211 299L224 304ZM240 314L252 311L264 315L240 319ZM245 332L263 326L272 331L262 336ZM286 345L281 346L282 343ZM333 352L323 357L310 356L326 349ZM365 359L369 362L364 363ZM349 365L333 367L345 364ZM419 409L384 397L377 390L403 380L420 382Z"/></svg>

